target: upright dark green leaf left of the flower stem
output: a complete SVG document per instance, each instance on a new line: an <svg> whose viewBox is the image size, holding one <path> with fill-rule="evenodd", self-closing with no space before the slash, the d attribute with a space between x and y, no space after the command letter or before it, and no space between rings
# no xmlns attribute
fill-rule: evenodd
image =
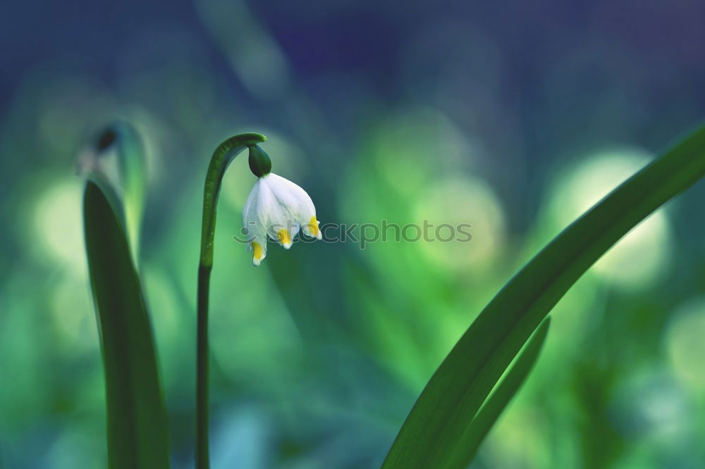
<svg viewBox="0 0 705 469"><path fill-rule="evenodd" d="M86 183L85 242L104 361L109 467L168 468L152 328L125 229L109 199L114 194Z"/></svg>

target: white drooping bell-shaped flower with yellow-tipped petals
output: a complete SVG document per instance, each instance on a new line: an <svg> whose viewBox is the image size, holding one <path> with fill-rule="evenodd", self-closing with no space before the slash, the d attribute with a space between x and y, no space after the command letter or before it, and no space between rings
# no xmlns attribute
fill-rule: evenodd
<svg viewBox="0 0 705 469"><path fill-rule="evenodd" d="M291 247L299 229L309 237L322 237L311 197L298 185L274 173L257 178L245 202L243 225L255 265L266 256L267 237L278 241L284 249Z"/></svg>

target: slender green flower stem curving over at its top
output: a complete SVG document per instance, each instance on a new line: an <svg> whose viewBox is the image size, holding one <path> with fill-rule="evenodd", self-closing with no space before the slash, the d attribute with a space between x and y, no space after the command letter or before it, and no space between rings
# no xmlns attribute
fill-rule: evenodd
<svg viewBox="0 0 705 469"><path fill-rule="evenodd" d="M198 265L196 338L196 469L208 469L208 291L213 268L213 239L216 231L216 205L223 175L228 165L247 146L266 140L260 134L240 134L221 143L208 165L203 191L201 255Z"/></svg>

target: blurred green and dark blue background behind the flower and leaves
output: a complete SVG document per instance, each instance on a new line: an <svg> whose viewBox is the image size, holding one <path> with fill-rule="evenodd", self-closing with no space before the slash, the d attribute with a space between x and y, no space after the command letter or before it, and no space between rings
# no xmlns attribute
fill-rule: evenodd
<svg viewBox="0 0 705 469"><path fill-rule="evenodd" d="M192 467L202 184L262 132L321 222L470 223L470 243L233 242L212 279L212 464L372 468L482 306L705 113L705 4L676 0L122 3L0 16L0 467L104 468L105 402L75 163L142 132L142 271L174 468ZM655 213L552 313L473 468L705 461L705 187Z"/></svg>

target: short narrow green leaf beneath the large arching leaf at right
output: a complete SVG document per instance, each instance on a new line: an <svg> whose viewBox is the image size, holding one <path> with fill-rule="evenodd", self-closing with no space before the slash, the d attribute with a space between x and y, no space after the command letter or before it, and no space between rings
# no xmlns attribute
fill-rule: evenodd
<svg viewBox="0 0 705 469"><path fill-rule="evenodd" d="M472 419L470 427L462 437L462 440L453 451L453 456L450 465L457 467L465 467L470 464L477 454L480 444L492 428L492 425L501 415L504 408L513 399L519 391L522 384L531 373L532 368L539 358L539 352L546 342L546 334L548 326L551 323L551 318L546 318L539 328L534 332L534 335L527 342L524 349L517 356L516 361L507 374L497 384L492 394L487 398L482 408L477 412L477 415Z"/></svg>

